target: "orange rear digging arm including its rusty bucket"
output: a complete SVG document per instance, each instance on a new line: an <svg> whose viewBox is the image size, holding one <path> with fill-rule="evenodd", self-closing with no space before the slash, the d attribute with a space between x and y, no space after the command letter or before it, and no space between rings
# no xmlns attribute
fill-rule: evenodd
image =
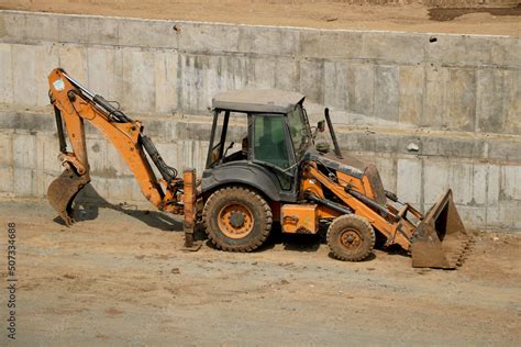
<svg viewBox="0 0 521 347"><path fill-rule="evenodd" d="M86 150L84 120L87 120L111 141L136 178L145 198L159 210L179 213L178 188L182 180L177 171L168 167L157 153L152 141L143 135L140 121L129 119L100 96L95 96L64 70L54 69L48 76L49 98L55 108L59 137L58 158L66 170L48 188L51 204L67 225L71 219L71 203L76 194L90 181L89 161ZM65 125L73 152L67 152ZM163 176L158 180L145 152Z"/></svg>

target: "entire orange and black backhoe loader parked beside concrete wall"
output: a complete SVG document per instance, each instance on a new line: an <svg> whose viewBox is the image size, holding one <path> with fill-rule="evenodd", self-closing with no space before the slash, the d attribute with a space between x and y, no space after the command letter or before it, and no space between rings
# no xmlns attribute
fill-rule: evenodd
<svg viewBox="0 0 521 347"><path fill-rule="evenodd" d="M152 204L184 215L186 248L197 248L193 228L199 223L218 248L229 251L258 248L279 223L281 232L290 234L317 234L326 227L331 255L340 260L366 259L377 234L385 239L384 247L399 245L409 251L413 267L454 269L464 259L470 237L451 190L425 214L400 202L384 189L373 164L340 150L328 109L325 122L310 126L304 96L298 92L231 90L215 94L206 169L196 179L193 169L178 177L140 121L128 117L63 69L54 69L48 82L58 158L65 171L51 183L47 198L67 225L74 223L76 194L90 181L84 131L88 121L112 142ZM230 135L230 122L239 117L247 123L241 148ZM314 145L325 123L334 150L323 143Z"/></svg>

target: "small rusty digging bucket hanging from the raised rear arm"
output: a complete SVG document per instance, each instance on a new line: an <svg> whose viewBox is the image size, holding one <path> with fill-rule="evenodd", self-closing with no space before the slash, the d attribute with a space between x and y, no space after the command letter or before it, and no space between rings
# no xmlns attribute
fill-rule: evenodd
<svg viewBox="0 0 521 347"><path fill-rule="evenodd" d="M89 181L88 175L79 176L73 170L66 169L48 186L47 200L67 226L74 223L73 201Z"/></svg>

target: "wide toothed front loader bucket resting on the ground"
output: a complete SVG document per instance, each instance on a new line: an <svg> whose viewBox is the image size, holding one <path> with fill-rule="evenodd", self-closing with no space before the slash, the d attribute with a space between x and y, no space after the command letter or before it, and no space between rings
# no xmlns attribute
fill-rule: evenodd
<svg viewBox="0 0 521 347"><path fill-rule="evenodd" d="M452 191L447 190L414 231L412 267L455 269L463 264L472 242L457 213Z"/></svg>

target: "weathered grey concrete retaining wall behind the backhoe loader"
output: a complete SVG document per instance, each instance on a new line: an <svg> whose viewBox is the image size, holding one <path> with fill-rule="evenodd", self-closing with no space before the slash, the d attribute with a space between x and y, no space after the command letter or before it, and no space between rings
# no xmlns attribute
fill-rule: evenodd
<svg viewBox="0 0 521 347"><path fill-rule="evenodd" d="M520 56L509 36L1 11L0 194L43 197L59 171L46 76L62 66L141 119L178 168L202 168L214 92L299 90L313 121L332 109L342 146L403 200L425 209L452 187L470 226L521 230ZM88 137L98 193L143 202L112 146Z"/></svg>

